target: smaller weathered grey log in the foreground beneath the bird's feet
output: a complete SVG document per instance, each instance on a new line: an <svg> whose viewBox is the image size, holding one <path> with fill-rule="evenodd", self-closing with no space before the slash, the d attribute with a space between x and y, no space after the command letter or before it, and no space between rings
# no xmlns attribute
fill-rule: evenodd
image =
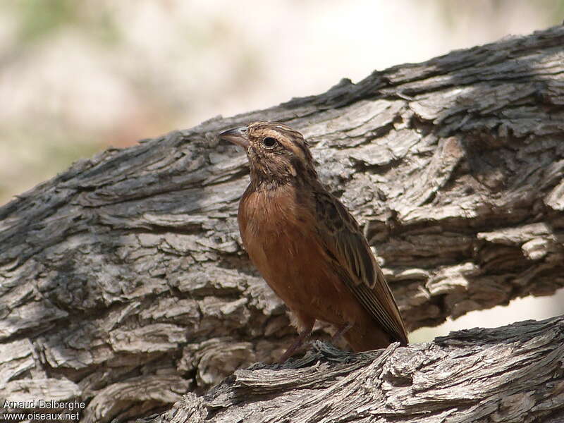
<svg viewBox="0 0 564 423"><path fill-rule="evenodd" d="M564 317L239 369L145 423L564 422Z"/></svg>

